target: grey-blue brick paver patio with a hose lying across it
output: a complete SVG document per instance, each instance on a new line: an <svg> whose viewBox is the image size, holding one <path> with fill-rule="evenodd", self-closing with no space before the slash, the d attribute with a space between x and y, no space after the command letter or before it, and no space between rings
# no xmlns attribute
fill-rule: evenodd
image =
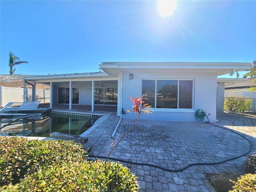
<svg viewBox="0 0 256 192"><path fill-rule="evenodd" d="M234 132L209 123L150 121L141 117L110 157L170 169L166 171L154 166L123 163L138 176L140 192L214 192L206 174L243 174L244 160L256 151L255 117L218 113L217 120L215 125ZM115 140L116 144L134 122L122 119L112 139L118 121L116 114L102 117L82 134L88 137L85 148L93 146L95 156L106 157L111 142ZM222 164L194 165L179 171L190 164L217 163L244 154L250 150L250 142L242 136L252 142L249 154Z"/></svg>

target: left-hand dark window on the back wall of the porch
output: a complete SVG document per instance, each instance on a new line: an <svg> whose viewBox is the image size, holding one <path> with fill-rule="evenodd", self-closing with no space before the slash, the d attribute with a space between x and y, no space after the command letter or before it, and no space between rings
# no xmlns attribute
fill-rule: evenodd
<svg viewBox="0 0 256 192"><path fill-rule="evenodd" d="M59 104L69 104L69 88L59 87ZM72 104L79 104L79 88L72 88Z"/></svg>

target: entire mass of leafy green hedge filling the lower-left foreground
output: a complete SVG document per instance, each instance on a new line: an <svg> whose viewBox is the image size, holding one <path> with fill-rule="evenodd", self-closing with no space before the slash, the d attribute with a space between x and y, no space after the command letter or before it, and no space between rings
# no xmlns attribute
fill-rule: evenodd
<svg viewBox="0 0 256 192"><path fill-rule="evenodd" d="M0 136L0 192L138 192L136 176L114 162L87 161L82 145Z"/></svg>

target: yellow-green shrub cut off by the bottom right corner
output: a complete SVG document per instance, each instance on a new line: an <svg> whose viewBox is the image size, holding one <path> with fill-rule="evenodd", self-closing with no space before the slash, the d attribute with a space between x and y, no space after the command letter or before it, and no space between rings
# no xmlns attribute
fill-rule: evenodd
<svg viewBox="0 0 256 192"><path fill-rule="evenodd" d="M233 190L229 192L255 192L256 191L256 174L245 174L238 178L238 180L232 181L235 185Z"/></svg>

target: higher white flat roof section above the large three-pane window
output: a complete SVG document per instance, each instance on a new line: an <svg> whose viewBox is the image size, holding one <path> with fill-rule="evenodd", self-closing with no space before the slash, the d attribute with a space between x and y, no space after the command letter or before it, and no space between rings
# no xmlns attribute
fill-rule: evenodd
<svg viewBox="0 0 256 192"><path fill-rule="evenodd" d="M232 74L240 70L250 70L251 63L227 62L102 62L100 68L109 75L117 76L121 72L143 70L152 72L164 70L170 72L216 72L217 76Z"/></svg>

